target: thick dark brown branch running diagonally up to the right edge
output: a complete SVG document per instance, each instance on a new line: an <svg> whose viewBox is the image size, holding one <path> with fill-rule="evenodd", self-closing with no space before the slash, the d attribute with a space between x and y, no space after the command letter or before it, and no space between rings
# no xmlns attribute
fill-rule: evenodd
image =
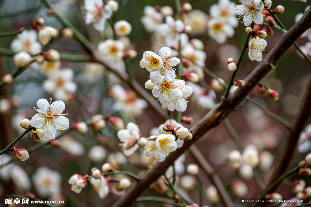
<svg viewBox="0 0 311 207"><path fill-rule="evenodd" d="M182 148L169 154L163 162L158 162L147 173L141 176L140 180L135 183L128 192L120 198L113 207L130 206L135 199L155 181L161 174L164 174L166 169L183 154L193 143L200 139L210 129L218 126L230 113L244 100L251 90L269 71L272 70L270 64L276 65L285 51L300 37L300 35L309 29L311 21L311 8L309 8L303 17L294 24L277 42L268 55L260 64L253 70L245 79L245 86L237 90L229 99L222 100L210 112L207 113L201 121L191 128L193 139L186 141Z"/></svg>

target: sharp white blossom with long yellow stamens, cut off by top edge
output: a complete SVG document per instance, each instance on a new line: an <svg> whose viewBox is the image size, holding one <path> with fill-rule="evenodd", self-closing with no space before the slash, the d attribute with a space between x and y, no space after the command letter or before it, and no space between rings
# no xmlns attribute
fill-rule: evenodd
<svg viewBox="0 0 311 207"><path fill-rule="evenodd" d="M236 5L234 12L239 15L239 19L243 17L245 26L249 26L252 22L262 24L264 4L261 0L241 0L242 4Z"/></svg>

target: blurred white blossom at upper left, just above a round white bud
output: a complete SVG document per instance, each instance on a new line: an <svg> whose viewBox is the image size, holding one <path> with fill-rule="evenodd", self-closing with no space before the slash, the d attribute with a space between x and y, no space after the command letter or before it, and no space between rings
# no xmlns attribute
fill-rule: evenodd
<svg viewBox="0 0 311 207"><path fill-rule="evenodd" d="M38 54L42 46L37 40L37 32L34 29L24 30L11 42L11 50L26 51L31 55Z"/></svg>

